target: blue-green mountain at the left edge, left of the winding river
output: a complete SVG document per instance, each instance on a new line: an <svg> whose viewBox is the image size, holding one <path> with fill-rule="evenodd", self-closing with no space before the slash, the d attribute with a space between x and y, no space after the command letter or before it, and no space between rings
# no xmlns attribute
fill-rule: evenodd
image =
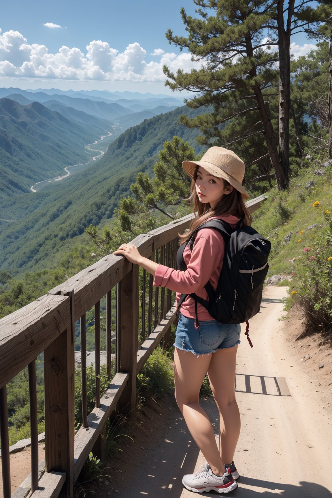
<svg viewBox="0 0 332 498"><path fill-rule="evenodd" d="M22 106L0 99L0 198L26 192L36 181L63 173L65 166L87 161L84 145L96 135L94 127L74 123L39 102Z"/></svg>

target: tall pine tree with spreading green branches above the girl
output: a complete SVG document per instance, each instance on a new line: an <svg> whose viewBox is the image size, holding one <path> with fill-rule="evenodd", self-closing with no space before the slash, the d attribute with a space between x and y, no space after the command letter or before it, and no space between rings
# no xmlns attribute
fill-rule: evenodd
<svg viewBox="0 0 332 498"><path fill-rule="evenodd" d="M308 0L290 0L286 8L284 0L193 1L199 7L196 12L200 18L188 16L181 9L188 36L173 35L169 29L166 37L181 50L187 48L193 60L203 65L190 73L178 70L176 75L164 66L166 85L173 90L197 92L187 102L188 106L194 109L213 106L213 113L190 122L185 118L182 121L200 127L205 136L211 133L213 142L218 144L222 123L258 111L260 122L241 139L263 133L278 188L284 190L289 181L290 36L294 30L316 33L318 22L326 17L327 7L314 9L306 6ZM272 51L271 46L281 52L279 72L278 52ZM278 76L280 155L268 101L275 95L273 88L279 86ZM230 102L237 103L239 110L226 117ZM262 129L257 130L258 124Z"/></svg>

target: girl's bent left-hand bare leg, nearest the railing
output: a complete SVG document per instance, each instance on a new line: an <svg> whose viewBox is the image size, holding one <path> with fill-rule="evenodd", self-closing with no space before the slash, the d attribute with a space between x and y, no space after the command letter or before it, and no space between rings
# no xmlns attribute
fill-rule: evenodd
<svg viewBox="0 0 332 498"><path fill-rule="evenodd" d="M193 353L175 349L174 383L175 398L191 435L212 472L216 476L222 476L225 469L215 433L208 415L199 404L200 388L214 354L200 355L197 358Z"/></svg>

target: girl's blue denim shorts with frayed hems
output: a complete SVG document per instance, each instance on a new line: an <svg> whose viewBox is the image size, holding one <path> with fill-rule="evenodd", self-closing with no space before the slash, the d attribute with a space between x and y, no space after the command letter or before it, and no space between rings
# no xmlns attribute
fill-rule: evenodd
<svg viewBox="0 0 332 498"><path fill-rule="evenodd" d="M216 320L203 320L195 328L195 319L179 315L175 334L175 346L182 351L195 355L208 355L218 349L233 348L240 344L241 326L220 323Z"/></svg>

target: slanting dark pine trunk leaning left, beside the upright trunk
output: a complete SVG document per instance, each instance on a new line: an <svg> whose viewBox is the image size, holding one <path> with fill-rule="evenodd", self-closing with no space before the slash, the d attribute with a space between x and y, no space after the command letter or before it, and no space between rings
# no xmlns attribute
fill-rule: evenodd
<svg viewBox="0 0 332 498"><path fill-rule="evenodd" d="M262 92L259 88L259 85L256 83L254 86L254 93L256 97L256 102L258 106L258 110L260 116L262 118L262 124L264 127L264 137L267 146L267 150L269 152L270 161L272 164L272 168L277 180L278 190L285 190L288 187L288 176L285 176L284 169L281 167L277 142L274 135L273 126L271 123L271 118L269 116L268 109L265 105L264 98Z"/></svg>

